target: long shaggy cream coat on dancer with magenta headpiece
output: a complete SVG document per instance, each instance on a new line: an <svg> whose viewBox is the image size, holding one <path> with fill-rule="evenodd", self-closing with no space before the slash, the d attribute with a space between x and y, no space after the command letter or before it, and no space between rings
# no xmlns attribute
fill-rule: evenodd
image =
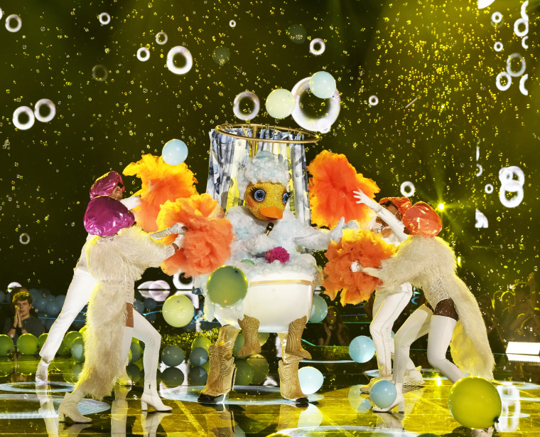
<svg viewBox="0 0 540 437"><path fill-rule="evenodd" d="M111 393L125 364L121 344L126 301L144 270L158 267L173 253L172 246L158 243L136 226L124 228L112 238L95 237L87 244L88 265L97 285L88 303L86 359L75 389L95 399Z"/></svg>

